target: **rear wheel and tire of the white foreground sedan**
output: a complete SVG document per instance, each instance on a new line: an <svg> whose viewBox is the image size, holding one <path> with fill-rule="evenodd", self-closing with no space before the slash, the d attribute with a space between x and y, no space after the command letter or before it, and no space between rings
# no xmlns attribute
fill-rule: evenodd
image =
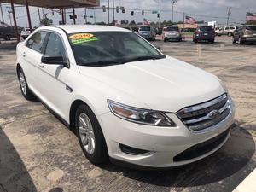
<svg viewBox="0 0 256 192"><path fill-rule="evenodd" d="M22 96L24 96L28 101L34 101L36 97L32 93L32 90L30 90L29 87L27 86L26 76L22 68L19 68L17 72L18 72L18 79L20 83L20 90L21 90Z"/></svg>

